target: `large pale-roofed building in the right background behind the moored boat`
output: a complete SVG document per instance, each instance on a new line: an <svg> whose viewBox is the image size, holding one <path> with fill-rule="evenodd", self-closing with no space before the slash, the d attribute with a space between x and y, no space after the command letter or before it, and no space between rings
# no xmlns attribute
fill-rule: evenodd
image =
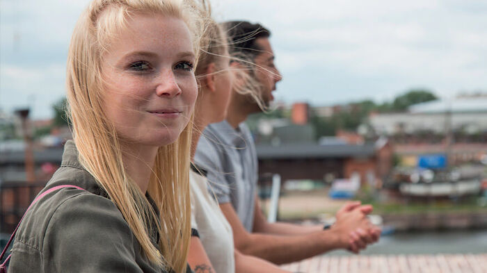
<svg viewBox="0 0 487 273"><path fill-rule="evenodd" d="M405 113L372 113L369 124L394 143L402 165L425 154L448 154L449 165L480 162L487 155L487 97L457 97L410 106Z"/></svg>

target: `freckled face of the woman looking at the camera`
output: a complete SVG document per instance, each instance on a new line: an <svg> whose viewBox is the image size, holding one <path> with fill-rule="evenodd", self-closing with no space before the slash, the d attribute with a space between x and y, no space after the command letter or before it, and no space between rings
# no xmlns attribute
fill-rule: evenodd
<svg viewBox="0 0 487 273"><path fill-rule="evenodd" d="M197 96L195 56L182 19L137 13L102 58L104 105L120 138L163 146L188 124Z"/></svg>

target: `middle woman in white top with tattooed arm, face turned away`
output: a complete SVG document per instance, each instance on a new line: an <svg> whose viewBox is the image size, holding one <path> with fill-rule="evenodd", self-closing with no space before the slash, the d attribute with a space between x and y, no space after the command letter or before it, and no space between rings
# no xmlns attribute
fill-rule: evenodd
<svg viewBox="0 0 487 273"><path fill-rule="evenodd" d="M225 118L232 88L237 88L234 74L241 72L237 62L230 64L227 38L221 26L212 20L208 25L202 36L200 60L196 69L200 90L195 105L192 155L205 127ZM195 273L286 272L265 260L246 256L234 249L232 227L208 191L205 169L195 165L192 169L190 187L193 236L188 262Z"/></svg>

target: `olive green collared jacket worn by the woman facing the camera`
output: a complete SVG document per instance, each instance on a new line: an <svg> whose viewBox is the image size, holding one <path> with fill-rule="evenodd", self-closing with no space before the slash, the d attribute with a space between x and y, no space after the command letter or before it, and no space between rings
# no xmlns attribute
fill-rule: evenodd
<svg viewBox="0 0 487 273"><path fill-rule="evenodd" d="M8 272L166 272L142 254L120 210L79 163L72 141L42 192L57 185L85 190L61 188L29 209L15 236ZM159 234L150 233L157 245Z"/></svg>

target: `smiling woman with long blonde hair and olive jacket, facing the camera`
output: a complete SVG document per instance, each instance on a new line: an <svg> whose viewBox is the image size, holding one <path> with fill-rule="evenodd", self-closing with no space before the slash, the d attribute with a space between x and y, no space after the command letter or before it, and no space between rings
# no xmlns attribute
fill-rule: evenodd
<svg viewBox="0 0 487 273"><path fill-rule="evenodd" d="M67 60L73 142L17 231L9 272L184 272L200 15L95 0Z"/></svg>

